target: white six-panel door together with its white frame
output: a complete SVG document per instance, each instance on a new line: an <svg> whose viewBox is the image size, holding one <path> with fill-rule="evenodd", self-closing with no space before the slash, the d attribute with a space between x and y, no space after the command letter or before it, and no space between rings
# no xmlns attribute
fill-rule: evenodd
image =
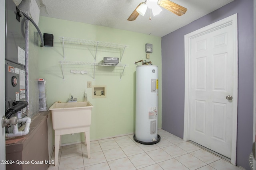
<svg viewBox="0 0 256 170"><path fill-rule="evenodd" d="M235 164L237 16L232 17L190 33L187 39L185 36L188 85L185 85L184 140L218 152Z"/></svg>

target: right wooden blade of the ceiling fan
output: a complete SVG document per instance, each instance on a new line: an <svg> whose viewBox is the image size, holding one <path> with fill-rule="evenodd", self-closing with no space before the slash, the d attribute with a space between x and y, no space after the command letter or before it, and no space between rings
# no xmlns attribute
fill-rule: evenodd
<svg viewBox="0 0 256 170"><path fill-rule="evenodd" d="M174 2L171 2L169 0L158 0L158 5L162 6L166 10L169 10L170 12L173 12L178 16L182 16L187 11L187 8L184 8L183 6L175 4Z"/></svg>

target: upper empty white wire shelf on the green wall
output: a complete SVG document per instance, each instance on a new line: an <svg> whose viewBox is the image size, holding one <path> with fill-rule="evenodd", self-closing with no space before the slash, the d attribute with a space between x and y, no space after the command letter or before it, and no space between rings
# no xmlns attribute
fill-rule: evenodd
<svg viewBox="0 0 256 170"><path fill-rule="evenodd" d="M128 45L123 45L123 44L107 43L107 42L101 42L101 41L92 41L92 40L76 39L76 38L68 38L68 37L59 37L59 40L64 43L89 45L89 46L95 46L95 47L106 47L106 48L120 49L120 50L124 50L125 48L128 47Z"/></svg>

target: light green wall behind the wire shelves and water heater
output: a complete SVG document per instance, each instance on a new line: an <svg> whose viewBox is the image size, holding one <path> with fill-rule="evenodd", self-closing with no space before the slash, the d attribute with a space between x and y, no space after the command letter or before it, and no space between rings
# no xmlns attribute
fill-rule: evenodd
<svg viewBox="0 0 256 170"><path fill-rule="evenodd" d="M153 53L148 61L158 66L158 128L162 127L161 37L42 16L39 28L42 33L54 35L54 47L40 48L39 51L39 78L46 80L47 105L50 107L56 101L67 102L71 95L81 102L86 91L88 101L94 106L90 126L91 141L135 132L134 61L146 60L145 44L153 44ZM129 66L124 69L121 80L122 67L96 66L94 80L93 66L65 64L63 79L58 61L94 62L96 48L65 43L64 59L60 36L128 45L120 63ZM98 49L96 62L101 62L103 57L120 58L121 53L117 50ZM70 70L86 70L88 74L73 74ZM87 81L91 81L92 86L106 86L106 98L92 98L92 88L87 88ZM63 135L62 144L84 141L83 138L82 133Z"/></svg>

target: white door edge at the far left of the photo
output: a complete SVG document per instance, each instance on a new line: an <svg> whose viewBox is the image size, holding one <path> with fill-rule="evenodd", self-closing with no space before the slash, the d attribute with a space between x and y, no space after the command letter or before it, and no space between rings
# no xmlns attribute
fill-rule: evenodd
<svg viewBox="0 0 256 170"><path fill-rule="evenodd" d="M5 54L5 0L0 1L0 77L4 80L4 54ZM5 115L5 91L4 81L0 81L0 118ZM5 128L1 128L0 132L0 160L5 160ZM5 164L0 164L0 169L5 170Z"/></svg>

